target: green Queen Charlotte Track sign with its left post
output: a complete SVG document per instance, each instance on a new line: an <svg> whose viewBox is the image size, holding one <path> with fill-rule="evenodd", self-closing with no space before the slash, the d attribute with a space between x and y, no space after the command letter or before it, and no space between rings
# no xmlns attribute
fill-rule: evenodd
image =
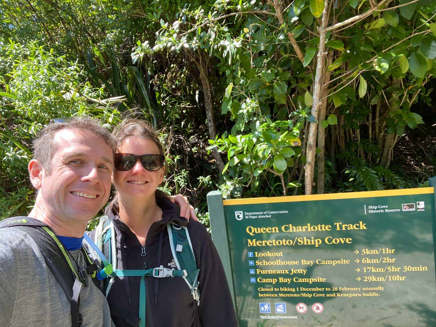
<svg viewBox="0 0 436 327"><path fill-rule="evenodd" d="M433 187L208 204L241 327L436 326Z"/></svg>

